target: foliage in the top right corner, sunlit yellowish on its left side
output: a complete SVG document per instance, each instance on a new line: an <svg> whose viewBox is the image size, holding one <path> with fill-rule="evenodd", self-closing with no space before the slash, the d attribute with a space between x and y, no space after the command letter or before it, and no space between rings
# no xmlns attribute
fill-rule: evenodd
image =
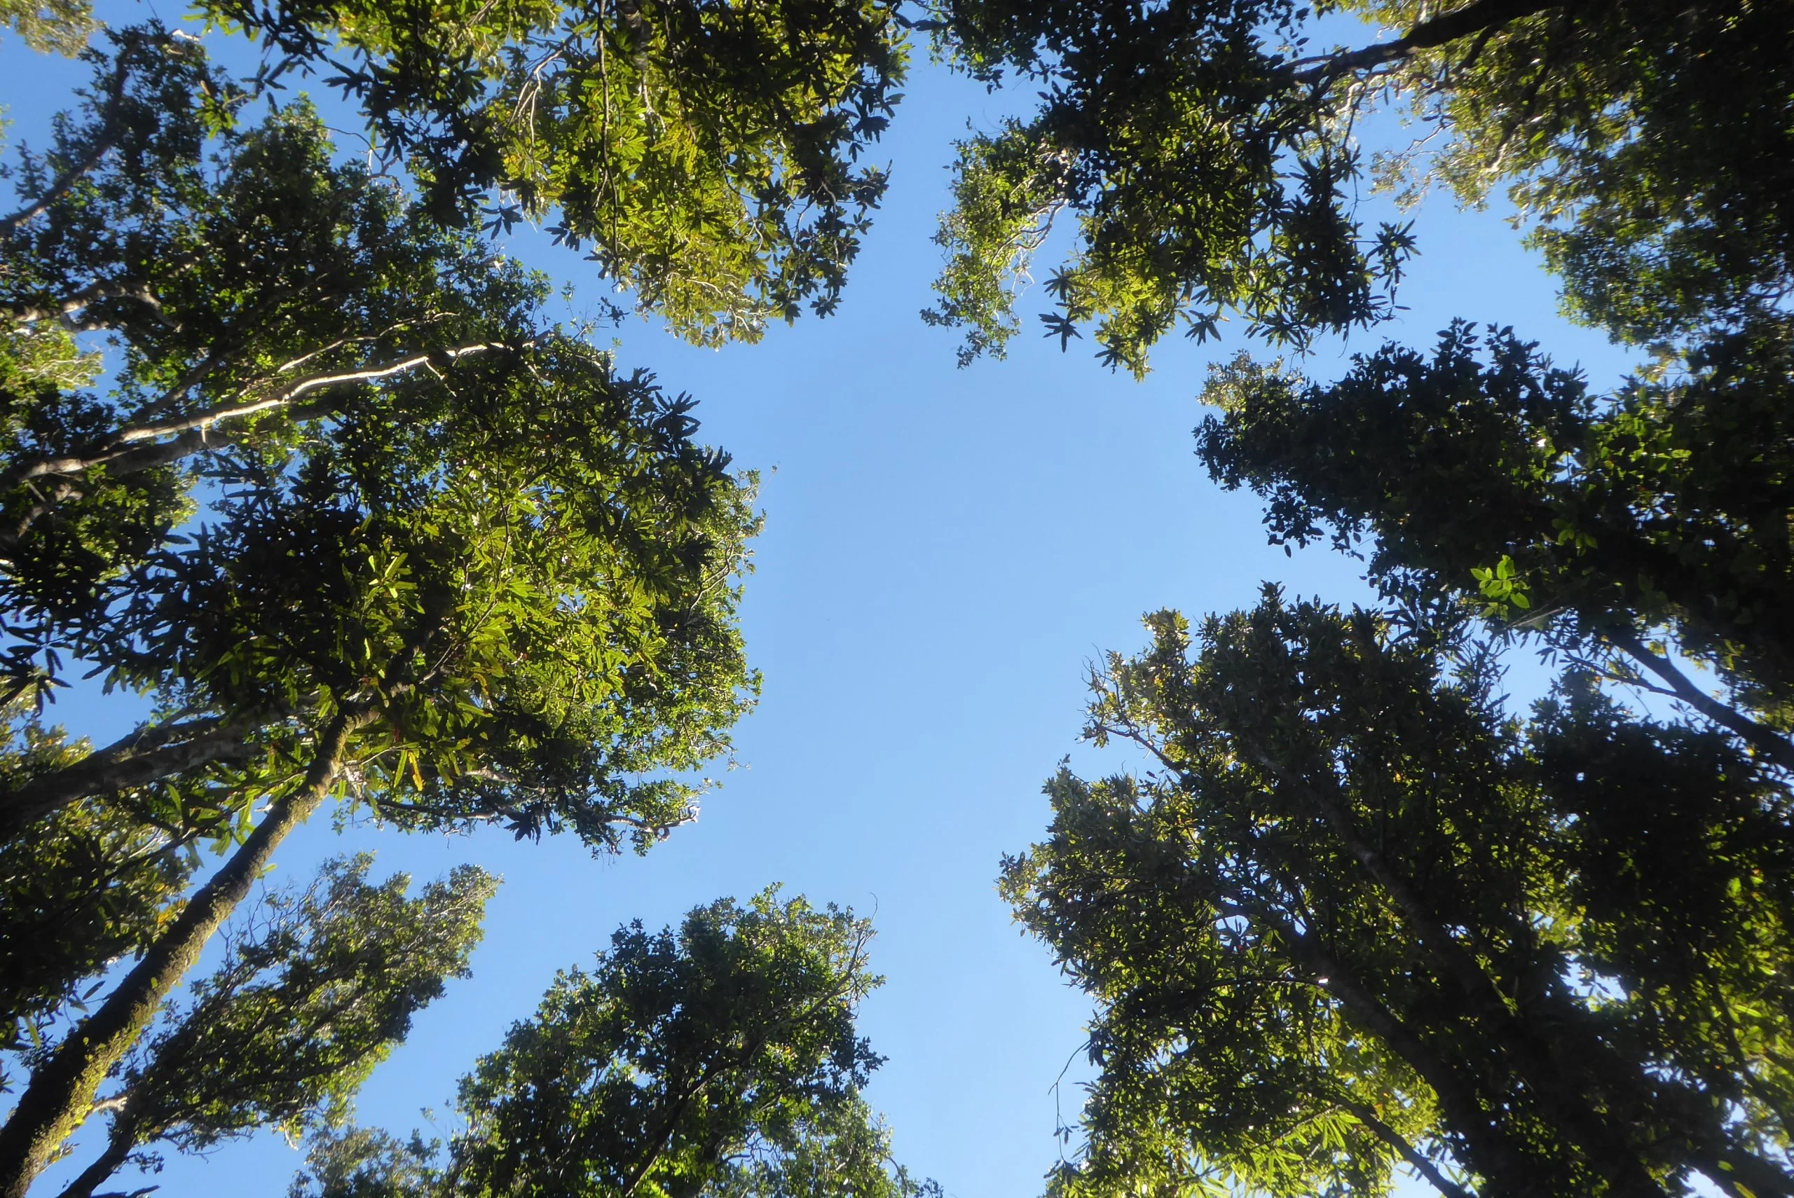
<svg viewBox="0 0 1794 1198"><path fill-rule="evenodd" d="M1399 29L1426 14L1346 7ZM1394 66L1442 145L1381 165L1471 203L1505 192L1568 312L1616 337L1738 328L1785 307L1794 264L1790 38L1753 4L1541 7Z"/></svg>

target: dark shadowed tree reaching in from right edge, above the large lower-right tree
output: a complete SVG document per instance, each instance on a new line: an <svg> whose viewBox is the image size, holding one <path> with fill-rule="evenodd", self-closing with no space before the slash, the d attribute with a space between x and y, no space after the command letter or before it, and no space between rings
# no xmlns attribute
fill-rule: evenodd
<svg viewBox="0 0 1794 1198"><path fill-rule="evenodd" d="M1272 542L1363 543L1390 601L1536 629L1787 769L1789 355L1787 325L1758 325L1595 396L1511 330L1455 323L1432 357L1385 346L1331 386L1240 359L1211 377L1198 448L1268 500Z"/></svg>

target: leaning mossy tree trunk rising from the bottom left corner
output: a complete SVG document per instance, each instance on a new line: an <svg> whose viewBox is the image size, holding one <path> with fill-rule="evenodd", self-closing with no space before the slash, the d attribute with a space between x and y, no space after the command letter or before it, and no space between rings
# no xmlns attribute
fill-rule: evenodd
<svg viewBox="0 0 1794 1198"><path fill-rule="evenodd" d="M300 789L269 807L242 848L194 893L118 988L32 1071L0 1128L0 1198L25 1198L56 1150L86 1121L106 1074L144 1035L163 999L199 959L206 940L249 893L274 846L323 803L341 773L350 735L370 719L343 712L325 726Z"/></svg>

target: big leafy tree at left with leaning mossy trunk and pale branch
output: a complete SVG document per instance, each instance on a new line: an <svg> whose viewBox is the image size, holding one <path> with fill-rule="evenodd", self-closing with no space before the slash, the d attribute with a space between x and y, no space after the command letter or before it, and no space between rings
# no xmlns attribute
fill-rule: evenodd
<svg viewBox="0 0 1794 1198"><path fill-rule="evenodd" d="M538 276L332 165L303 108L239 133L242 91L188 43L117 47L97 93L151 97L142 120L104 99L66 122L14 222L16 343L52 348L18 368L4 603L14 662L54 678L68 649L160 710L16 775L9 829L126 791L169 827L228 816L240 846L32 1062L0 1128L9 1194L330 796L646 848L691 818L675 775L727 751L755 683L734 624L752 479L692 441L689 400L615 377L542 319ZM88 282L57 292L72 264ZM56 325L118 334L111 396L57 368ZM176 534L201 481L215 499Z"/></svg>

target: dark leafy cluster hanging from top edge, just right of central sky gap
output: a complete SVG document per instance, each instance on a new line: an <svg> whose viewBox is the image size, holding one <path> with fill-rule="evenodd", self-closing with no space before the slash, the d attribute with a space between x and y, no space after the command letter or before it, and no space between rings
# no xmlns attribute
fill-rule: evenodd
<svg viewBox="0 0 1794 1198"><path fill-rule="evenodd" d="M1076 247L1053 271L1064 344L1094 323L1102 357L1141 375L1182 321L1216 335L1229 310L1306 343L1389 314L1412 249L1349 212L1356 152L1328 106L1292 86L1308 9L1274 0L938 4L936 45L978 79L1037 77L1041 108L960 143L947 267L927 316L965 326L962 362L1019 328L1015 283L1066 210Z"/></svg>

